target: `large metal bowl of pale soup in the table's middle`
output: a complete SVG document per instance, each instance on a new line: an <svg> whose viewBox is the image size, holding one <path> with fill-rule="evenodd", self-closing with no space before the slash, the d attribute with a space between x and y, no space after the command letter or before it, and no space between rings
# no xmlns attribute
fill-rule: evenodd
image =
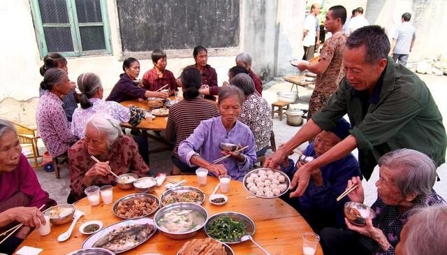
<svg viewBox="0 0 447 255"><path fill-rule="evenodd" d="M195 203L174 203L156 212L155 226L168 238L184 240L192 238L205 226L207 210Z"/></svg>

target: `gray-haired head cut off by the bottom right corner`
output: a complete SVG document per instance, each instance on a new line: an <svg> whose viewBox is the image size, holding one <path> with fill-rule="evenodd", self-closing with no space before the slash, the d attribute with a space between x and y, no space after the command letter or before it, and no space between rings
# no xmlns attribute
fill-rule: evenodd
<svg viewBox="0 0 447 255"><path fill-rule="evenodd" d="M408 228L406 241L401 244L408 254L446 254L447 205L423 207L404 225ZM433 245L427 245L427 244Z"/></svg>

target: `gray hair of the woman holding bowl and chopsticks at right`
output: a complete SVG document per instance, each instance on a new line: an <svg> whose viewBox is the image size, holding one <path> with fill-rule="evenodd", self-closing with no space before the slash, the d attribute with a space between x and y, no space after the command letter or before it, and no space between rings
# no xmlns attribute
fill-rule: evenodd
<svg viewBox="0 0 447 255"><path fill-rule="evenodd" d="M396 186L406 196L416 194L413 203L423 203L432 191L436 180L436 166L422 152L400 149L388 152L379 159L379 166L399 171Z"/></svg>

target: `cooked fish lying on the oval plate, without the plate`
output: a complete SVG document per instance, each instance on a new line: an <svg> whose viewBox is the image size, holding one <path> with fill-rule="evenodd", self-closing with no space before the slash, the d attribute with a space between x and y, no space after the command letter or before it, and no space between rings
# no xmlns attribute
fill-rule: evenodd
<svg viewBox="0 0 447 255"><path fill-rule="evenodd" d="M110 249L112 252L119 252L139 245L151 233L154 226L151 224L140 224L123 226L110 231L103 238L96 241L93 247Z"/></svg>

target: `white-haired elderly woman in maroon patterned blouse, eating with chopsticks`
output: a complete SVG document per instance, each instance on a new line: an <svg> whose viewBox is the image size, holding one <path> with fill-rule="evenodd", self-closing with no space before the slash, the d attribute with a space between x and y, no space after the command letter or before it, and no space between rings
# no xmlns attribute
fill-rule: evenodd
<svg viewBox="0 0 447 255"><path fill-rule="evenodd" d="M99 161L96 163L91 156ZM85 197L84 189L91 185L115 185L116 175L135 173L149 175L149 166L138 153L138 146L124 136L119 122L110 115L96 113L85 125L85 137L68 149L71 194L68 203Z"/></svg>

